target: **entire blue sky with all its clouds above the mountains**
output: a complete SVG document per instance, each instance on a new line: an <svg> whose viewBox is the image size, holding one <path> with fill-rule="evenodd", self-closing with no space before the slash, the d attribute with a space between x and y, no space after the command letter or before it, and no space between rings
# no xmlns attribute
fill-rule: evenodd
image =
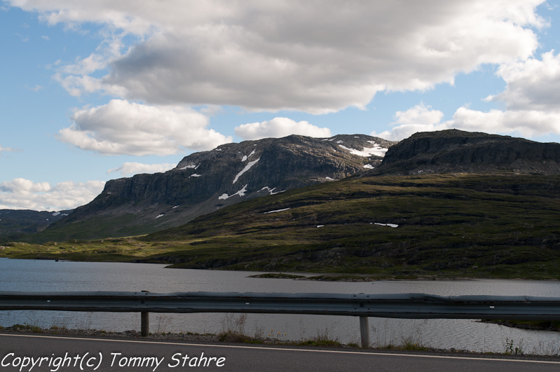
<svg viewBox="0 0 560 372"><path fill-rule="evenodd" d="M266 137L560 142L558 1L0 0L0 30L0 209Z"/></svg>

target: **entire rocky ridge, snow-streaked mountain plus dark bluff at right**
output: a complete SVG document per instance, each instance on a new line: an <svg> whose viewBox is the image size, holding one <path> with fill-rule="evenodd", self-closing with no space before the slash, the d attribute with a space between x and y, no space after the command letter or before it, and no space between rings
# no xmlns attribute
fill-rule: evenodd
<svg viewBox="0 0 560 372"><path fill-rule="evenodd" d="M389 142L366 135L289 136L193 153L165 173L108 181L88 205L37 241L142 235L244 200L365 176L560 174L560 144L479 132L421 132Z"/></svg>

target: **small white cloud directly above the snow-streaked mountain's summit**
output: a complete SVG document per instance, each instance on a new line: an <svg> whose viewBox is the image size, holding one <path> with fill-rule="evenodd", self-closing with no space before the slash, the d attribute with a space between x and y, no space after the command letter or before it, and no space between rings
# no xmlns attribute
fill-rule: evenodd
<svg viewBox="0 0 560 372"><path fill-rule="evenodd" d="M289 135L331 137L329 128L319 128L307 121L296 122L289 118L273 118L261 123L248 123L235 127L235 135L243 139L280 138Z"/></svg>

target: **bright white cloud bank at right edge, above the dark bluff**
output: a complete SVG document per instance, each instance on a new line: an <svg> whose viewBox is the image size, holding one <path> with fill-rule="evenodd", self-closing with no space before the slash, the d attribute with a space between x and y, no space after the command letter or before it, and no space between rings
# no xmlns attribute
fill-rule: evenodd
<svg viewBox="0 0 560 372"><path fill-rule="evenodd" d="M533 137L560 134L560 54L554 50L541 59L528 58L502 64L496 74L507 83L503 92L486 97L486 102L504 102L505 110L477 111L458 108L451 120L444 114L419 104L395 113L393 128L378 136L403 139L416 132L457 128L472 132ZM372 133L372 135L375 135Z"/></svg>

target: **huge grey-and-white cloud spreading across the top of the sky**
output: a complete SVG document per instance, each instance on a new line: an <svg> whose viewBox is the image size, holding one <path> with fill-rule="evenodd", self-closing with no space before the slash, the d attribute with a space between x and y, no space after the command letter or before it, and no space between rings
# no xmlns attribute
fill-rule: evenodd
<svg viewBox="0 0 560 372"><path fill-rule="evenodd" d="M363 108L382 90L425 90L480 64L526 60L538 46L533 29L547 26L535 13L542 2L8 1L50 24L112 30L113 48L58 71L73 95L310 113ZM137 36L130 48L125 35Z"/></svg>

